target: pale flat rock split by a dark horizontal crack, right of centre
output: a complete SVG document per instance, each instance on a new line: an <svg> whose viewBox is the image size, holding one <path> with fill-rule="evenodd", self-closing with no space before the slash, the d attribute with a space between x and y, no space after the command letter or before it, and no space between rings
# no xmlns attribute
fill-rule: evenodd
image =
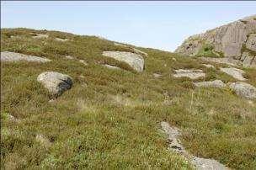
<svg viewBox="0 0 256 170"><path fill-rule="evenodd" d="M190 79L197 79L197 78L200 78L200 77L205 77L205 73L202 70L179 69L179 70L174 70L174 72L176 72L176 73L173 74L173 77L189 77Z"/></svg>

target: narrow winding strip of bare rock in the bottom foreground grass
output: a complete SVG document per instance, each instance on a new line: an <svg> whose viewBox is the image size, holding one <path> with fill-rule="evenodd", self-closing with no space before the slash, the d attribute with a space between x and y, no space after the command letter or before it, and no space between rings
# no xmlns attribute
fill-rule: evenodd
<svg viewBox="0 0 256 170"><path fill-rule="evenodd" d="M161 122L163 132L168 135L168 147L170 150L176 151L195 166L199 170L227 170L228 168L217 162L214 159L205 159L195 157L185 150L184 146L179 141L180 130L176 127L171 127L167 122Z"/></svg>

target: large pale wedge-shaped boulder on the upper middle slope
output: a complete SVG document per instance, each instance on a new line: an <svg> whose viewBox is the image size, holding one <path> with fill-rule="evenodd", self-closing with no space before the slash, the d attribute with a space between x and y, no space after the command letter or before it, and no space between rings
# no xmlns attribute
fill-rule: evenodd
<svg viewBox="0 0 256 170"><path fill-rule="evenodd" d="M134 68L136 72L142 72L144 69L143 57L135 53L123 51L104 51L103 56L114 58L117 61L124 61Z"/></svg>

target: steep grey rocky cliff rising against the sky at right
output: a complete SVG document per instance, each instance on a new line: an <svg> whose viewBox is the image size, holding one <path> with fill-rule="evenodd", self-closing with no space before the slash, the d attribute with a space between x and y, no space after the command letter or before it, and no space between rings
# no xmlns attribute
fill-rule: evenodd
<svg viewBox="0 0 256 170"><path fill-rule="evenodd" d="M200 35L190 36L175 52L189 56L199 56L202 51L212 56L225 56L238 59L244 51L254 55L256 15L237 20L230 24L211 29ZM205 54L205 53L201 53Z"/></svg>

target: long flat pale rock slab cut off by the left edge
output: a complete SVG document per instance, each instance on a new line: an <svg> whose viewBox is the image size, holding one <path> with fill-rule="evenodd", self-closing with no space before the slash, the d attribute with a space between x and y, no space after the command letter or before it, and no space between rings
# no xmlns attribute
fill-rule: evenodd
<svg viewBox="0 0 256 170"><path fill-rule="evenodd" d="M19 54L16 52L4 51L4 52L1 52L1 61L48 62L51 60L47 58L42 58L39 56L28 56L28 55Z"/></svg>

